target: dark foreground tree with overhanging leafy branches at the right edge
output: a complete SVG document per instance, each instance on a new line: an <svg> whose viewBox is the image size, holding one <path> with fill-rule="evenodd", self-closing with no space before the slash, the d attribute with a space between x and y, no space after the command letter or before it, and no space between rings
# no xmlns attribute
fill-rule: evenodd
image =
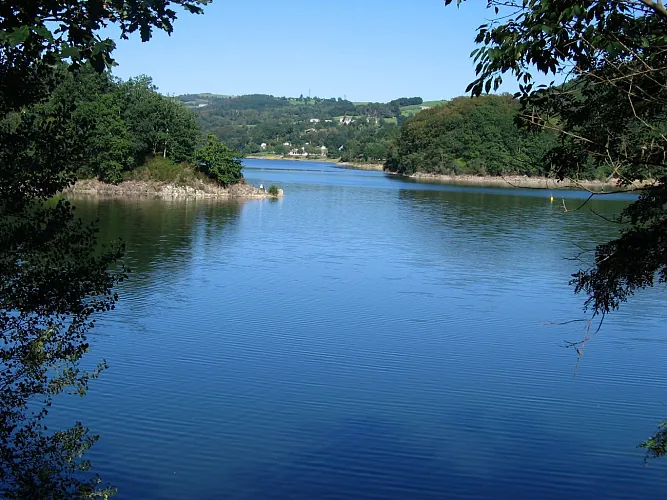
<svg viewBox="0 0 667 500"><path fill-rule="evenodd" d="M457 0L461 4L463 0ZM445 0L451 4L453 0ZM573 275L593 316L617 309L638 290L667 282L667 9L654 0L488 0L498 19L479 27L473 95L520 82L520 125L556 131L547 156L558 177L610 172L620 185L649 181L618 217L618 238ZM531 72L558 85L536 86ZM587 339L584 339L584 342ZM667 450L667 427L643 443Z"/></svg>

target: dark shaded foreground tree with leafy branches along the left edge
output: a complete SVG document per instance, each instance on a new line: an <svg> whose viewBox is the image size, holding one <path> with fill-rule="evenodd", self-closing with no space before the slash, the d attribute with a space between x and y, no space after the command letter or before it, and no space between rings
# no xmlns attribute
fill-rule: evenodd
<svg viewBox="0 0 667 500"><path fill-rule="evenodd" d="M82 370L95 314L114 307L113 287L123 247L97 248L96 228L52 197L84 167L86 145L71 133L74 96L50 99L63 82L57 62L76 71L112 63L114 44L100 29L123 37L168 33L180 5L200 12L207 0L48 2L0 5L0 497L108 496L82 474L82 454L96 437L77 423L50 431L44 418L55 395L84 394L105 367ZM106 117L107 119L109 117ZM123 149L122 145L118 145ZM116 161L116 146L109 161ZM101 148L100 154L105 153Z"/></svg>

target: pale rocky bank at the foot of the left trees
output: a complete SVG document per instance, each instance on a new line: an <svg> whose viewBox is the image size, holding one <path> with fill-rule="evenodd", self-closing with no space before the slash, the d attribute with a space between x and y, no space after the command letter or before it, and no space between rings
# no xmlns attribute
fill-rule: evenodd
<svg viewBox="0 0 667 500"><path fill-rule="evenodd" d="M283 196L283 190L279 189L278 195L274 196L255 186L243 183L221 187L202 181L197 181L193 185L179 186L157 181L123 181L120 184L106 184L98 180L80 180L73 186L63 190L63 194L110 198L145 197L163 199L248 200L280 198Z"/></svg>

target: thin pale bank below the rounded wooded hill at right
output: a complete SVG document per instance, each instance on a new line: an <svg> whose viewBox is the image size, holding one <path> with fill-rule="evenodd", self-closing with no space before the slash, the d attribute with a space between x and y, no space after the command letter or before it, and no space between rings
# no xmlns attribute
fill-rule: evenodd
<svg viewBox="0 0 667 500"><path fill-rule="evenodd" d="M391 175L400 175L395 172L387 172ZM562 181L548 177L528 177L527 175L508 175L508 176L478 176L478 175L444 175L427 174L418 172L406 176L420 182L433 182L438 184L452 184L457 186L483 186L483 187L515 187L521 189L582 189L585 191L594 191L600 193L634 191L641 189L643 184L636 182L631 186L621 187L616 182L602 182L597 180L571 180Z"/></svg>

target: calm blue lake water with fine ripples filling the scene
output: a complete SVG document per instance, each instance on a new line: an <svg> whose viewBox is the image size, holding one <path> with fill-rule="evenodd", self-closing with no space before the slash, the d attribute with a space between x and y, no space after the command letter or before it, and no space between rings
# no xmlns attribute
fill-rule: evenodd
<svg viewBox="0 0 667 500"><path fill-rule="evenodd" d="M656 498L664 289L605 320L568 279L630 198L448 187L247 161L284 199L79 201L132 279L91 335L110 369L54 418L119 499ZM564 213L565 203L570 209Z"/></svg>

